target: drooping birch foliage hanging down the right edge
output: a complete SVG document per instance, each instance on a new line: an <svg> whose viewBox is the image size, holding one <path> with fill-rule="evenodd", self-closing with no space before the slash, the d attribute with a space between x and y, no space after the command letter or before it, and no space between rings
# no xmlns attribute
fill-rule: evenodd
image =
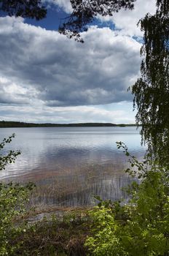
<svg viewBox="0 0 169 256"><path fill-rule="evenodd" d="M140 20L144 31L141 78L132 88L142 141L161 164L169 164L169 1L158 0L155 15Z"/></svg>

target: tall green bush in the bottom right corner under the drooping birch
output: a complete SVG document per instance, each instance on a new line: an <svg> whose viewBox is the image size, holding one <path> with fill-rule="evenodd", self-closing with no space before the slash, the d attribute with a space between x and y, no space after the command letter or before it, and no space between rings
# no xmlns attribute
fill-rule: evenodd
<svg viewBox="0 0 169 256"><path fill-rule="evenodd" d="M150 170L140 185L133 184L130 214L120 238L129 255L169 255L169 196L162 172Z"/></svg>

